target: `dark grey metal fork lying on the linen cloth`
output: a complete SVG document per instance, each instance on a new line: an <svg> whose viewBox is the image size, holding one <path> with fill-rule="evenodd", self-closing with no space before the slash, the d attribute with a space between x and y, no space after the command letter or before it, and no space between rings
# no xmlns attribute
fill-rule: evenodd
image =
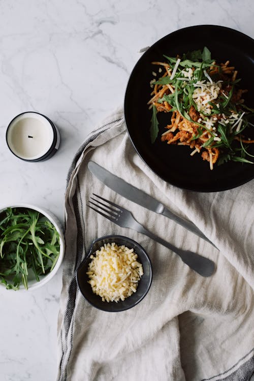
<svg viewBox="0 0 254 381"><path fill-rule="evenodd" d="M202 276L210 276L212 275L215 265L214 262L209 260L208 258L202 257L199 254L190 251L190 250L182 250L171 243L165 241L164 239L156 236L149 230L143 227L143 225L139 224L138 221L134 218L132 213L129 210L124 209L123 207L104 199L101 196L98 196L93 193L93 196L96 196L97 200L91 197L91 200L96 201L94 203L93 201L88 201L91 205L87 205L89 208L95 210L97 213L100 213L116 225L120 226L121 228L130 228L138 231L139 233L145 234L154 241L168 247L170 250L174 251L181 260L188 265L191 269L196 271ZM106 212L106 213L104 213Z"/></svg>

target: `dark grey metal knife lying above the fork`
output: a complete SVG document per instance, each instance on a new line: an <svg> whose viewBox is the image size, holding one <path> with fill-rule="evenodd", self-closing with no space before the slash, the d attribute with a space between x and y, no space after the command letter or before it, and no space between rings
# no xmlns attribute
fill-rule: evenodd
<svg viewBox="0 0 254 381"><path fill-rule="evenodd" d="M96 176L101 182L107 185L109 188L114 190L119 195L125 197L130 201L135 202L136 204L143 206L146 209L149 209L155 213L162 214L177 224L181 225L183 228L189 230L190 232L196 234L200 238L205 239L207 242L211 243L214 247L216 247L209 239L197 228L195 224L186 219L179 217L178 215L171 212L166 208L161 202L154 199L152 196L147 195L147 193L143 192L136 188L135 186L127 183L121 178L113 175L113 173L107 171L105 168L101 167L99 164L96 164L92 161L88 162L89 171Z"/></svg>

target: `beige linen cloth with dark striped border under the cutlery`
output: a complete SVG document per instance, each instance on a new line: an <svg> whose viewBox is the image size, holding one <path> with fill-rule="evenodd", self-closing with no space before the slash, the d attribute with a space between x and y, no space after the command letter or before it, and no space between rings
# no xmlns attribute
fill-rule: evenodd
<svg viewBox="0 0 254 381"><path fill-rule="evenodd" d="M117 195L89 172L89 160L193 221L219 250L169 218ZM179 189L141 160L126 132L122 110L98 126L80 147L68 175L57 380L250 380L254 371L253 186L252 180L218 193ZM142 225L175 246L210 258L216 263L215 273L200 276L166 247L89 209L86 203L92 192L131 210ZM75 280L92 240L107 234L138 241L153 265L146 297L118 313L89 305Z"/></svg>

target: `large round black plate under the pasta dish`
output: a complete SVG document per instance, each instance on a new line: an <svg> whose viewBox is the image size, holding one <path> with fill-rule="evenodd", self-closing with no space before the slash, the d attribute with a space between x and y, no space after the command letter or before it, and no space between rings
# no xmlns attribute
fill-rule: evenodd
<svg viewBox="0 0 254 381"><path fill-rule="evenodd" d="M198 25L179 29L152 45L139 59L130 76L124 100L124 116L131 141L150 169L163 180L180 188L198 192L231 189L254 178L254 165L236 162L214 166L203 161L200 154L190 156L188 146L168 145L160 136L169 121L166 113L158 114L158 138L150 141L151 110L150 80L154 60L165 60L163 54L176 56L207 46L218 62L230 60L238 70L241 88L247 88L245 104L254 107L254 40L236 31L216 25ZM252 129L253 131L254 129ZM253 137L251 131L250 137ZM254 138L254 137L253 137ZM254 154L254 144L249 153Z"/></svg>

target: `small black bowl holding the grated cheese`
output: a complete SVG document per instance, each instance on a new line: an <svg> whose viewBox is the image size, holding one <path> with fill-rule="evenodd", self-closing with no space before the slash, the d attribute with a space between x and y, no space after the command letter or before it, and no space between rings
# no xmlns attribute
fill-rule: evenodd
<svg viewBox="0 0 254 381"><path fill-rule="evenodd" d="M144 274L139 280L136 293L133 293L123 301L120 300L119 302L103 302L102 298L99 295L96 295L92 292L91 285L87 283L89 278L86 274L86 271L88 264L91 261L90 255L104 246L105 243L107 244L113 242L118 245L124 245L134 249L138 255L137 261L142 263ZM85 259L78 267L76 279L81 294L92 306L107 312L119 312L136 306L148 293L152 282L152 264L143 247L141 247L131 238L118 235L104 236L92 242L87 257L85 257Z"/></svg>

